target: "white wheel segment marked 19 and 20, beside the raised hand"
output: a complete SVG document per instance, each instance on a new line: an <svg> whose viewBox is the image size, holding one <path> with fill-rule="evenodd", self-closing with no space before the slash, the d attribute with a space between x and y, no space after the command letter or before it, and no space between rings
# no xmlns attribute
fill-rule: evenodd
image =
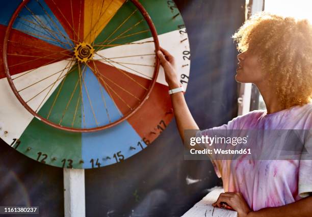
<svg viewBox="0 0 312 217"><path fill-rule="evenodd" d="M189 41L185 40L187 39L187 34L180 34L179 32L183 30L185 31L185 29L181 29L158 36L160 45L168 50L173 57L181 57L181 53L190 50ZM172 40L173 38L176 40ZM140 77L151 79L154 71L154 68L151 66L155 63L154 44L152 40L153 38L147 38L132 42L131 44L103 49L97 51L98 55L95 54L93 59ZM186 64L183 58L178 58L175 61L178 76L180 77L181 74L189 75L190 64ZM133 65L133 63L141 65ZM159 70L157 82L168 86L162 66Z"/></svg>

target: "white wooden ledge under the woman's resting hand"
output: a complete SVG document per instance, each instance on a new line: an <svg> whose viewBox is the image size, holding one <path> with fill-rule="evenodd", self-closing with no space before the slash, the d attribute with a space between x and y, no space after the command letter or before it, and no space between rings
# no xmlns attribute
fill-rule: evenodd
<svg viewBox="0 0 312 217"><path fill-rule="evenodd" d="M182 217L237 217L238 214L236 211L217 207L214 209L211 205L217 201L221 193L224 193L222 187L215 188L212 192L196 203L189 211L182 215Z"/></svg>

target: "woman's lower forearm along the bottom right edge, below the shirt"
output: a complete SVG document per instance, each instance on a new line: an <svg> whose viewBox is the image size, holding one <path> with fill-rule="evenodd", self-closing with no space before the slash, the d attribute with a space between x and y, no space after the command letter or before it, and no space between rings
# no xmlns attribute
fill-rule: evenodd
<svg viewBox="0 0 312 217"><path fill-rule="evenodd" d="M248 217L310 217L312 216L312 196L300 199L294 203L278 207L263 208L249 212Z"/></svg>

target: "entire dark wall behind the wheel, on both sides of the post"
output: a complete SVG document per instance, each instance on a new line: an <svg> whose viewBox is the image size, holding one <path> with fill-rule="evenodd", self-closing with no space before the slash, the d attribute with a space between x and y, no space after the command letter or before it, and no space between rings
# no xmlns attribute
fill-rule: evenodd
<svg viewBox="0 0 312 217"><path fill-rule="evenodd" d="M175 2L191 46L187 103L200 128L219 126L237 115L237 51L230 36L244 20L245 0ZM0 205L40 206L40 216L63 216L62 169L39 164L3 141L0 163ZM221 184L209 160L184 160L174 121L144 151L85 175L88 217L180 216ZM188 184L187 178L200 181Z"/></svg>

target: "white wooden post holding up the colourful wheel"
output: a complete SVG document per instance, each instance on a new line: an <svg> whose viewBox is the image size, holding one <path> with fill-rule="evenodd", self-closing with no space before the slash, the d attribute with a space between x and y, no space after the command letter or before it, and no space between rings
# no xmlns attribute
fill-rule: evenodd
<svg viewBox="0 0 312 217"><path fill-rule="evenodd" d="M64 169L65 217L85 217L85 170Z"/></svg>

